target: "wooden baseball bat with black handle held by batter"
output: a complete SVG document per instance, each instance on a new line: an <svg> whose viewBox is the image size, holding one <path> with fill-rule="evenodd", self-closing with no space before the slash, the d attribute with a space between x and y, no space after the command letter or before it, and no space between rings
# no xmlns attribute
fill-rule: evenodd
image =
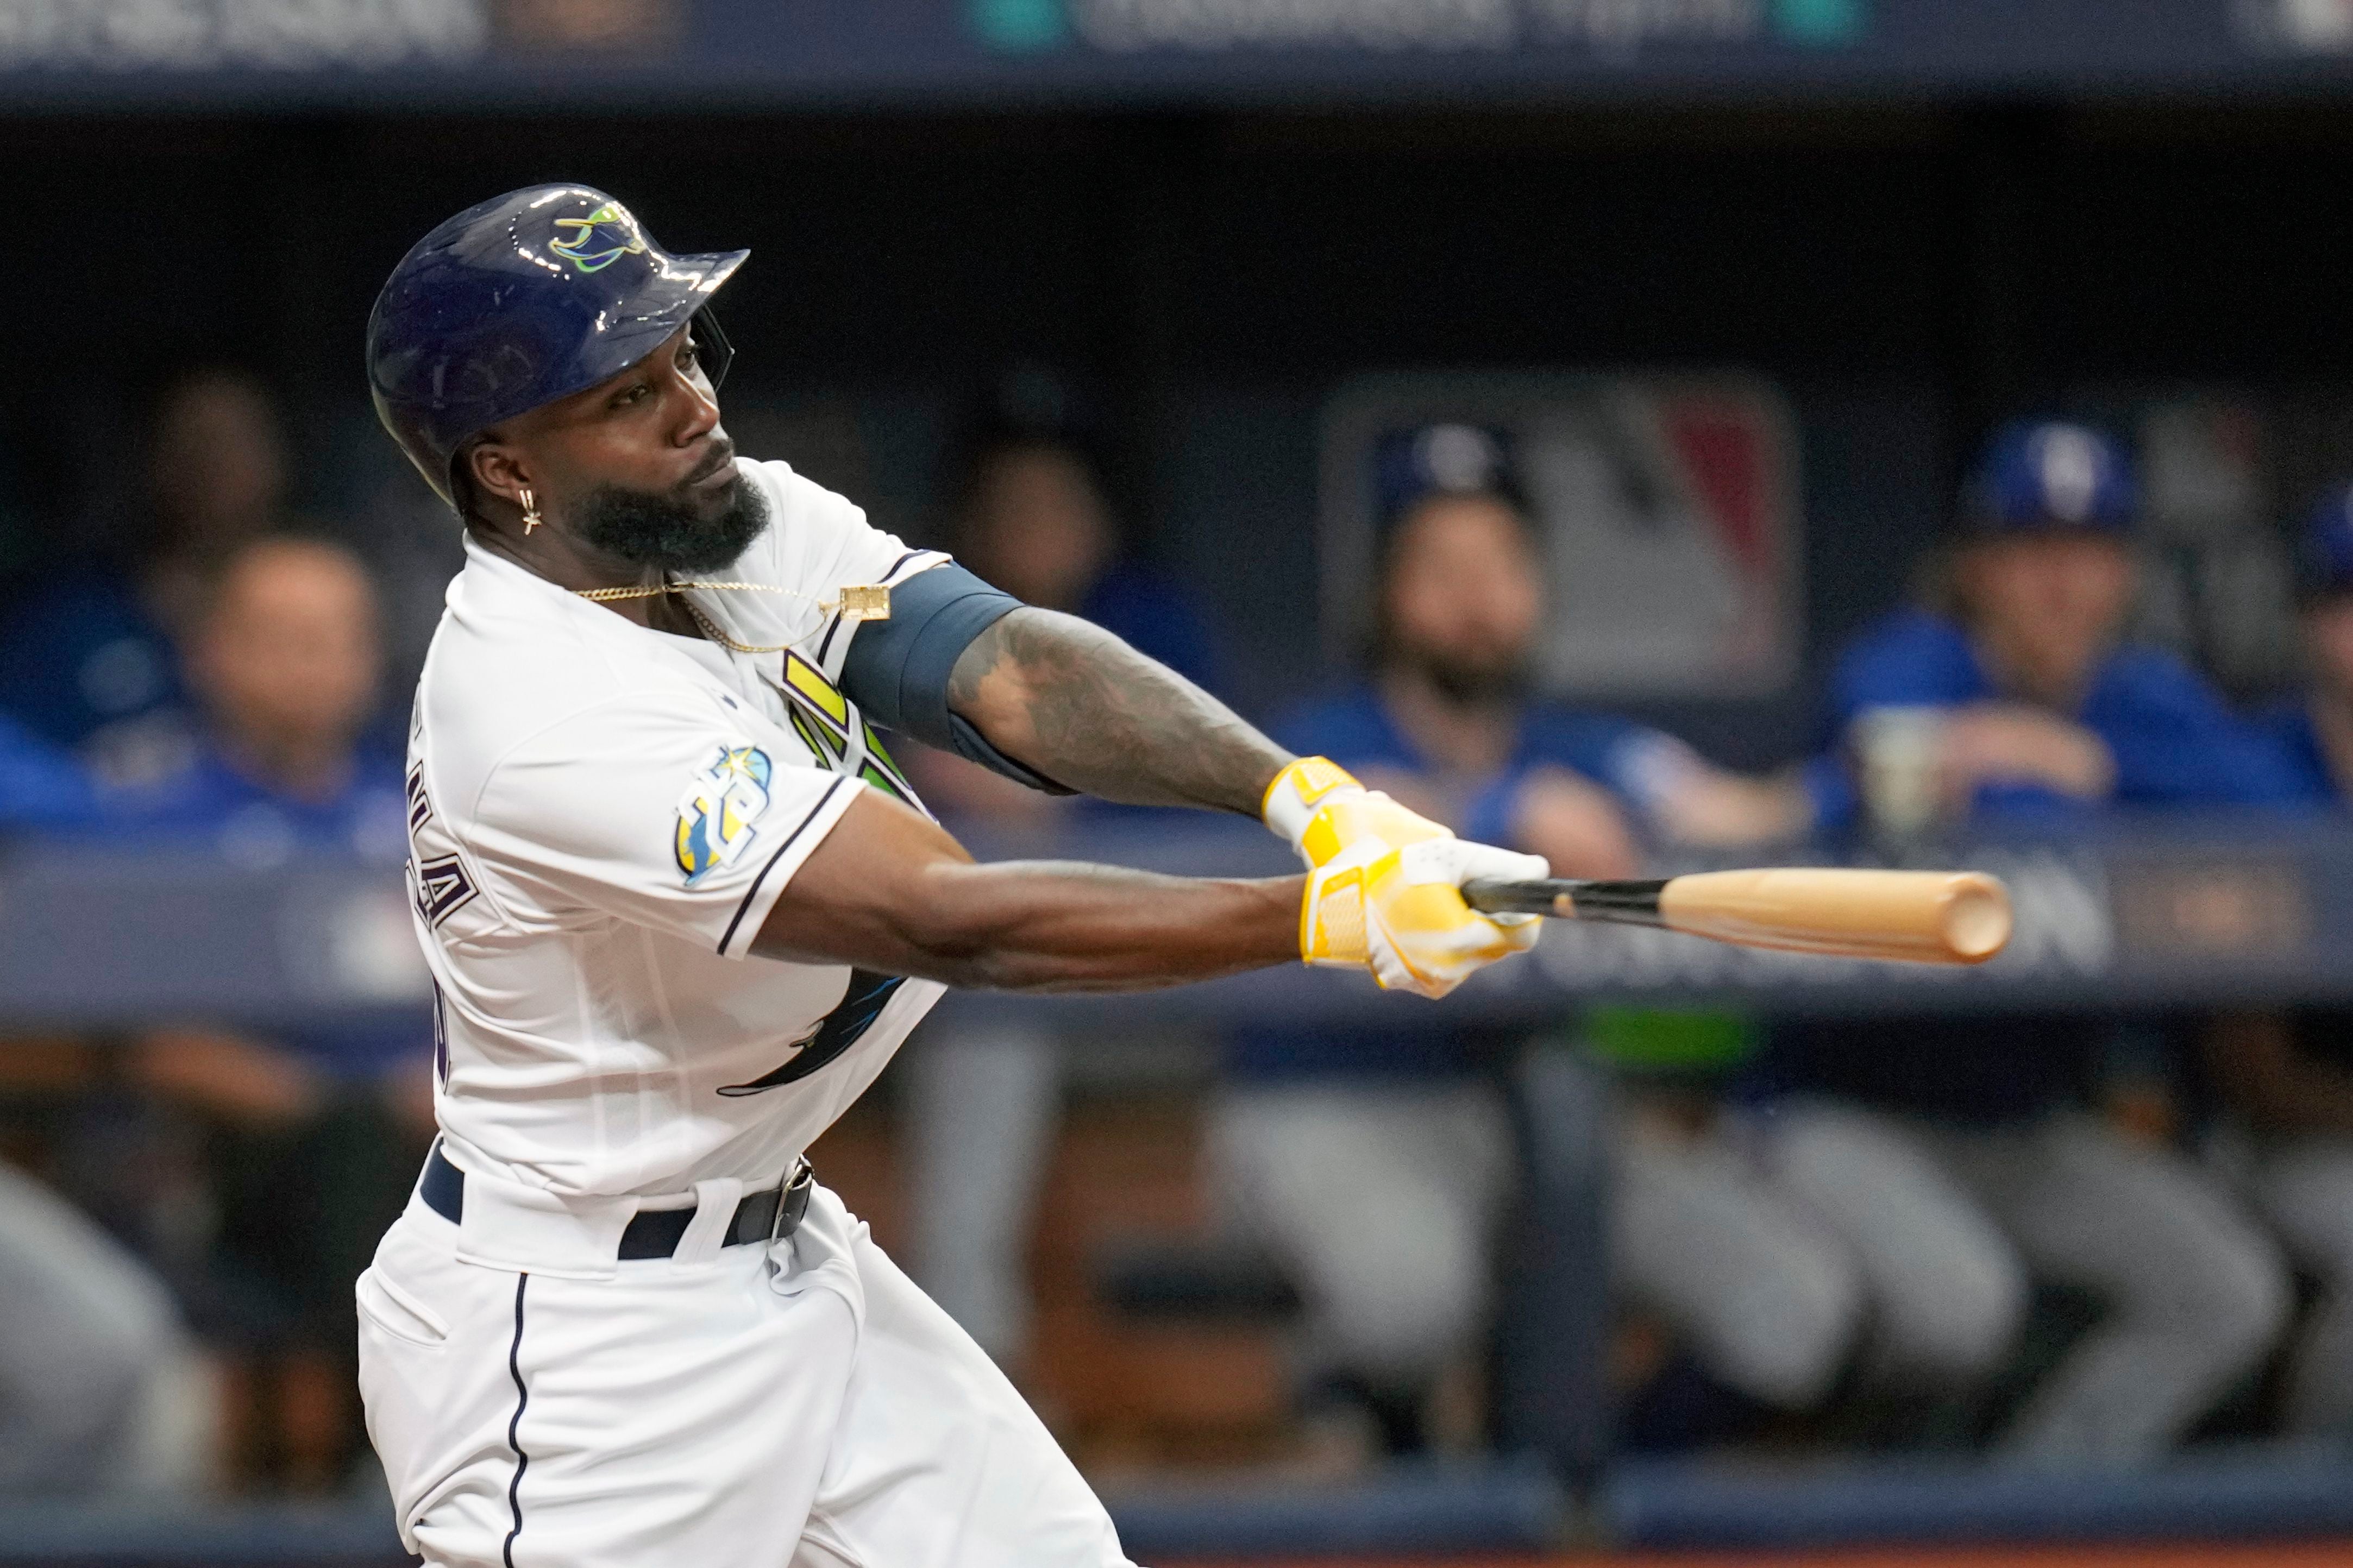
<svg viewBox="0 0 2353 1568"><path fill-rule="evenodd" d="M2009 940L2009 889L1984 872L1791 865L1664 882L1471 882L1464 898L1489 914L1664 926L1849 959L1984 964Z"/></svg>

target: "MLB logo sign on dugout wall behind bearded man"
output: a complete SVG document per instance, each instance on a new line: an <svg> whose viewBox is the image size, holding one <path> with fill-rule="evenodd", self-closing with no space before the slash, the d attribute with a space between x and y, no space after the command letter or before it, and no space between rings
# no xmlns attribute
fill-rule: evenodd
<svg viewBox="0 0 2353 1568"><path fill-rule="evenodd" d="M1795 418L1753 376L1400 374L1322 421L1322 630L1374 630L1398 487L1501 482L1544 541L1529 675L1574 698L1786 689L1805 632ZM1398 491L1398 494L1393 494Z"/></svg>

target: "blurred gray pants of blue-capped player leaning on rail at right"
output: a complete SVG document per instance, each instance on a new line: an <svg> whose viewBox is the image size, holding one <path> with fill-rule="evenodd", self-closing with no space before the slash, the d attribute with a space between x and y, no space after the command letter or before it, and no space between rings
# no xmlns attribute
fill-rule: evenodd
<svg viewBox="0 0 2353 1568"><path fill-rule="evenodd" d="M1760 1147L1781 1190L1849 1248L1871 1363L1892 1378L1988 1371L2028 1276L2101 1298L2101 1321L1998 1441L2026 1462L2158 1458L2287 1321L2287 1269L2261 1229L2191 1161L2087 1114L1955 1131L1798 1100L1765 1121Z"/></svg>

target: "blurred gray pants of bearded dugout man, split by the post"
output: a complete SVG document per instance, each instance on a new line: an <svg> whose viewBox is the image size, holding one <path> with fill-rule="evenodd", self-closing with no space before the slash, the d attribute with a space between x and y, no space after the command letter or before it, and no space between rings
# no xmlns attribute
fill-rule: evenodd
<svg viewBox="0 0 2353 1568"><path fill-rule="evenodd" d="M1492 1086L1228 1093L1212 1119L1212 1168L1233 1225L1306 1298L1311 1371L1409 1392L1475 1347L1513 1194L1513 1128ZM1864 1316L1864 1284L1835 1232L1737 1140L1640 1107L1614 1119L1607 1185L1617 1284L1711 1373L1784 1408L1828 1392Z"/></svg>

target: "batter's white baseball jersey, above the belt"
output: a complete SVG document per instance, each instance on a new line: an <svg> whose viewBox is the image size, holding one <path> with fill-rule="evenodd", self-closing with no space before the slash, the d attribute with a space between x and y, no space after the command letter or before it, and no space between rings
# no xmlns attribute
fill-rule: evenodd
<svg viewBox="0 0 2353 1568"><path fill-rule="evenodd" d="M840 689L842 585L941 564L784 463L699 590L734 642L633 625L466 543L409 733L409 877L449 1157L558 1197L774 1182L939 999L744 961L861 790L913 799ZM800 595L800 597L795 597Z"/></svg>

